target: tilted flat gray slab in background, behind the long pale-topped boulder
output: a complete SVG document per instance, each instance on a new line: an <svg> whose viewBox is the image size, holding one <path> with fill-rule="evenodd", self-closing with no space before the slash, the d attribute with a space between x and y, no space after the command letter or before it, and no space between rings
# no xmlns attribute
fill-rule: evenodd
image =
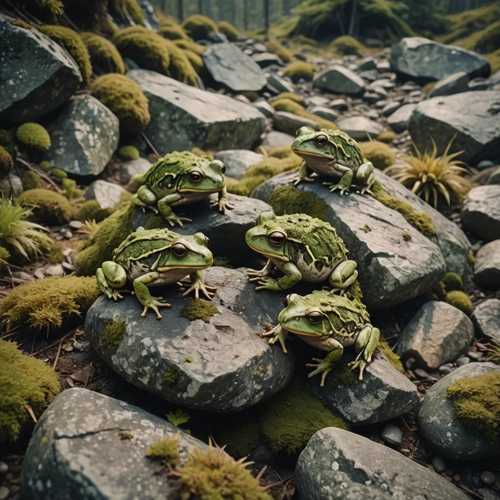
<svg viewBox="0 0 500 500"><path fill-rule="evenodd" d="M210 76L232 92L258 92L267 82L257 62L234 43L214 43L201 57Z"/></svg>

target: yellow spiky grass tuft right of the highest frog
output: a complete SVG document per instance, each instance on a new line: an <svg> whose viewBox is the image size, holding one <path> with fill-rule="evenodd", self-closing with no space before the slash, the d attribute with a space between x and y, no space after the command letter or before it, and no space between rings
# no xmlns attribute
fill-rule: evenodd
<svg viewBox="0 0 500 500"><path fill-rule="evenodd" d="M434 208L440 195L448 205L451 201L459 203L470 189L470 183L463 177L467 170L460 165L463 161L456 160L456 156L463 151L449 153L453 138L448 142L441 156L437 156L437 146L432 140L432 152L423 154L413 144L415 153L401 156L401 162L388 166L383 171L401 184L405 185L427 203L432 197Z"/></svg>

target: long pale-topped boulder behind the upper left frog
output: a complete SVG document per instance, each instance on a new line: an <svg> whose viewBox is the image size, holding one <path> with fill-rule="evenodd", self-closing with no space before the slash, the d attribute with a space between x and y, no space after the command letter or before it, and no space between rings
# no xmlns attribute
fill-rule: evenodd
<svg viewBox="0 0 500 500"><path fill-rule="evenodd" d="M160 154L194 146L249 149L264 129L264 115L250 104L154 71L132 69L127 76L149 99L151 121L145 133Z"/></svg>

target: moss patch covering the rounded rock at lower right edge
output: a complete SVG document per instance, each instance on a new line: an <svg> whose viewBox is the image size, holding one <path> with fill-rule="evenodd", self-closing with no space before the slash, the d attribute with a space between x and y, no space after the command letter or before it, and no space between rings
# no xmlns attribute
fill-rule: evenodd
<svg viewBox="0 0 500 500"><path fill-rule="evenodd" d="M446 389L459 418L496 440L500 429L500 371L459 378Z"/></svg>

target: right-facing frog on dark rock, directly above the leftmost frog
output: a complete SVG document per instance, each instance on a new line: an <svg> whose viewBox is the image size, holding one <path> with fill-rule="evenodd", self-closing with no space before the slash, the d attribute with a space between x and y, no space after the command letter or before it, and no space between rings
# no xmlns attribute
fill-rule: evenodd
<svg viewBox="0 0 500 500"><path fill-rule="evenodd" d="M140 187L131 201L142 209L159 211L171 226L183 227L182 221L191 219L177 217L172 206L194 203L218 192L218 200L210 202L210 206L218 207L222 213L226 208L234 208L227 201L224 172L224 164L211 156L174 151L159 158L146 173L132 177L132 183Z"/></svg>

